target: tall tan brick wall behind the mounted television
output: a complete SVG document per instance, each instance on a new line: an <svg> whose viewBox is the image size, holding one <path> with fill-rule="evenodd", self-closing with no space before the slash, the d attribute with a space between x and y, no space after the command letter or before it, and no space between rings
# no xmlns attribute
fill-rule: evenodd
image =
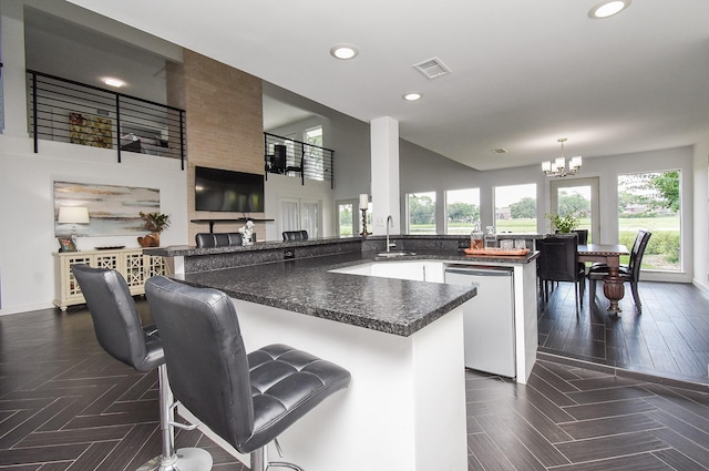
<svg viewBox="0 0 709 471"><path fill-rule="evenodd" d="M195 166L264 174L261 80L229 65L184 51L183 63L167 65L167 102L186 111L187 212L192 219L228 219L240 214L195 212ZM263 218L263 213L251 217ZM273 224L273 223L271 223ZM243 223L217 224L215 232L237 232ZM208 232L207 224L189 223L188 240ZM259 240L266 234L256 225Z"/></svg>

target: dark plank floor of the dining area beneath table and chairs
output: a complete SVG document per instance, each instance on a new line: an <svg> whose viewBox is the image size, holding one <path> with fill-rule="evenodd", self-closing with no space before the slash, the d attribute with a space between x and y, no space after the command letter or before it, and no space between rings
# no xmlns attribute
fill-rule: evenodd
<svg viewBox="0 0 709 471"><path fill-rule="evenodd" d="M709 385L708 295L690 284L640 281L643 313L628 290L623 313L609 316L599 287L576 317L572 286L559 284L540 308L541 351Z"/></svg>

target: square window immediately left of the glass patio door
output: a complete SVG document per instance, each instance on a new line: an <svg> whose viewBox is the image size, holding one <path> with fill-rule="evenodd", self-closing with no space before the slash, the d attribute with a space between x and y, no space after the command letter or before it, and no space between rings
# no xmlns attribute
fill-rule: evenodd
<svg viewBox="0 0 709 471"><path fill-rule="evenodd" d="M536 184L495 186L495 229L536 233Z"/></svg>

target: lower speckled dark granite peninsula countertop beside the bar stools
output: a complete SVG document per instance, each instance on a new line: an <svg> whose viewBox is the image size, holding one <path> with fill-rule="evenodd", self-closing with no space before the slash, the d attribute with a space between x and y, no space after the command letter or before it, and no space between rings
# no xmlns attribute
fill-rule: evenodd
<svg viewBox="0 0 709 471"><path fill-rule="evenodd" d="M329 272L373 262L371 255L348 253L192 273L175 278L193 286L220 289L235 299L403 337L476 294L474 287Z"/></svg>

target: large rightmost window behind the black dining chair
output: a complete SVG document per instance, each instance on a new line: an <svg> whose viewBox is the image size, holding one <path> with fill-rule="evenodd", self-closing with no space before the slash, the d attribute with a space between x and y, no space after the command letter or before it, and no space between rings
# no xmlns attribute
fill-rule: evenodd
<svg viewBox="0 0 709 471"><path fill-rule="evenodd" d="M629 249L638 229L653 233L643 269L681 269L680 176L680 171L618 175L618 242Z"/></svg>

